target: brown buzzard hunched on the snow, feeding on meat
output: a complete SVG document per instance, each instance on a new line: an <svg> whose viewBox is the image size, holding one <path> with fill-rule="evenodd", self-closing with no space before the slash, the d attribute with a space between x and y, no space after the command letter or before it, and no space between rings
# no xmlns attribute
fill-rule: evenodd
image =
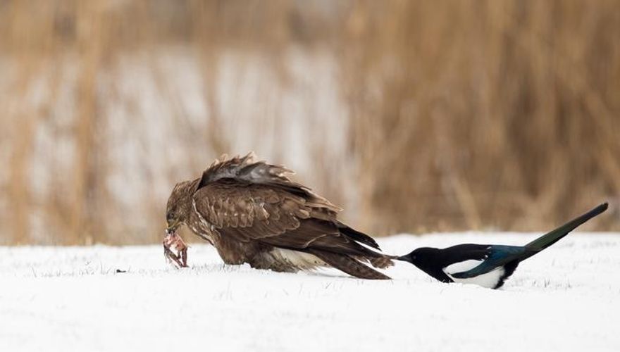
<svg viewBox="0 0 620 352"><path fill-rule="evenodd" d="M362 279L390 279L366 264L387 268L395 256L379 253L374 239L337 219L340 208L288 174L249 153L222 156L201 177L176 184L166 207L166 256L186 265L176 231L187 225L230 265L278 272L333 267Z"/></svg>

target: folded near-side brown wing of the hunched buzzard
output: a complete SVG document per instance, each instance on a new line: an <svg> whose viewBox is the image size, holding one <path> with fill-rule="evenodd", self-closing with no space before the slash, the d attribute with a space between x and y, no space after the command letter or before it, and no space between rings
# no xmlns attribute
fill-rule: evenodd
<svg viewBox="0 0 620 352"><path fill-rule="evenodd" d="M356 238L343 234L339 226L346 226L337 221L335 211L322 207L314 199L309 203L286 189L221 179L199 189L193 201L196 211L213 224L221 236L239 241L256 240L287 249L316 249L371 258L383 256L361 246Z"/></svg>

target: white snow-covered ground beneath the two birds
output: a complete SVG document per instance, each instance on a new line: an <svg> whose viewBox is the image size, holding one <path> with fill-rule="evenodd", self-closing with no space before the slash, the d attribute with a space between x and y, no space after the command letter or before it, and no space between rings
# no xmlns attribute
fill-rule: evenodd
<svg viewBox="0 0 620 352"><path fill-rule="evenodd" d="M400 254L534 237L380 244ZM620 234L571 234L497 291L408 263L377 282L227 266L206 245L189 256L177 270L160 246L0 247L0 351L620 351Z"/></svg>

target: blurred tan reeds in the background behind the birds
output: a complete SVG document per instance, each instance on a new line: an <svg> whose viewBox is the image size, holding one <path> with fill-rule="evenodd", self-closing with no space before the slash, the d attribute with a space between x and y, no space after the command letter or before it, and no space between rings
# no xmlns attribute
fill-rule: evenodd
<svg viewBox="0 0 620 352"><path fill-rule="evenodd" d="M161 241L254 150L375 235L620 230L619 1L0 1L0 244Z"/></svg>

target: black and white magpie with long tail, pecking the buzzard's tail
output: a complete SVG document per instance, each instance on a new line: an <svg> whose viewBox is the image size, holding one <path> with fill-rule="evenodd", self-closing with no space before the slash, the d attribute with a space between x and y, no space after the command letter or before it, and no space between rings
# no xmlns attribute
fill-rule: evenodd
<svg viewBox="0 0 620 352"><path fill-rule="evenodd" d="M423 247L397 259L416 265L441 282L478 284L489 289L499 289L521 261L543 251L605 210L607 203L602 203L525 246L459 244L445 249Z"/></svg>

